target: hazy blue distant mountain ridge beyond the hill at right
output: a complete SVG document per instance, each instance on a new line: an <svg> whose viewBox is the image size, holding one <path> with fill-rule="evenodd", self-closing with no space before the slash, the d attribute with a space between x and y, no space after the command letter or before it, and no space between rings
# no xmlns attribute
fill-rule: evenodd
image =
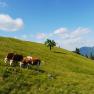
<svg viewBox="0 0 94 94"><path fill-rule="evenodd" d="M80 53L87 56L90 56L92 53L92 55L94 56L94 47L81 47Z"/></svg>

